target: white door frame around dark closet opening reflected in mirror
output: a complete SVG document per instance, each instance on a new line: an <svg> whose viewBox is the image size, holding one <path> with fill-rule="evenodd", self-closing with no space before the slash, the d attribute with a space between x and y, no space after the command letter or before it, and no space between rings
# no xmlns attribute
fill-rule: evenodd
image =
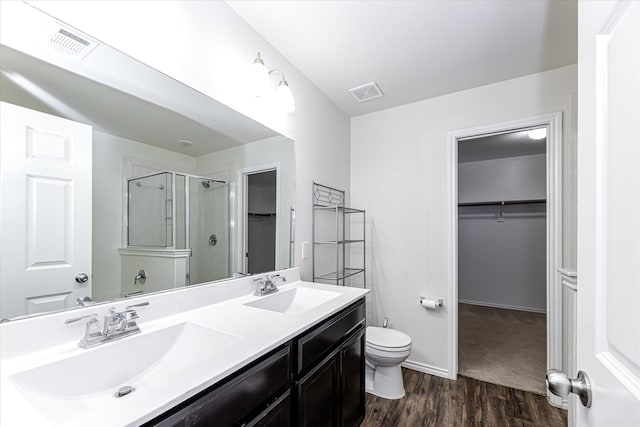
<svg viewBox="0 0 640 427"><path fill-rule="evenodd" d="M280 242L278 236L280 235L280 225L278 218L280 218L280 163L266 163L258 166L250 166L243 169L238 170L238 245L237 245L237 271L241 273L247 273L247 268L249 267L247 264L247 257L245 254L248 250L248 239L249 236L247 234L248 224L247 224L247 206L248 206L248 194L247 185L248 185L248 177L249 175L254 175L262 172L276 172L276 259L275 259L275 267L278 268L278 253L280 249Z"/></svg>

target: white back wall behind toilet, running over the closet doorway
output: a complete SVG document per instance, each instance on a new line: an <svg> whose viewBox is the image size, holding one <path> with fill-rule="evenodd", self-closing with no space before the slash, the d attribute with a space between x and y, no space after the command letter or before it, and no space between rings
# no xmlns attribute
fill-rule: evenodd
<svg viewBox="0 0 640 427"><path fill-rule="evenodd" d="M408 333L414 367L441 375L451 368L454 302L445 299L438 312L418 304L420 296L446 298L453 286L447 133L566 112L575 90L576 67L568 66L352 119L351 204L367 209L370 323L388 316L391 327Z"/></svg>

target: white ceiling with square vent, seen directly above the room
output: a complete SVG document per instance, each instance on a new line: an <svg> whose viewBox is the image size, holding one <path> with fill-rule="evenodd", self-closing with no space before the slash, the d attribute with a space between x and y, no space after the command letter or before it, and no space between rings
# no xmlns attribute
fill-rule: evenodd
<svg viewBox="0 0 640 427"><path fill-rule="evenodd" d="M349 116L577 62L576 1L228 3Z"/></svg>

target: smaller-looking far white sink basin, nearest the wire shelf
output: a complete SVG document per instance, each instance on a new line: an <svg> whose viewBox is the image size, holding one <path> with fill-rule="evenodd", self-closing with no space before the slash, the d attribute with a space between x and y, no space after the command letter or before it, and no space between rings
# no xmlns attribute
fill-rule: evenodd
<svg viewBox="0 0 640 427"><path fill-rule="evenodd" d="M245 305L278 313L298 314L342 295L340 292L311 288L293 288L248 302Z"/></svg>

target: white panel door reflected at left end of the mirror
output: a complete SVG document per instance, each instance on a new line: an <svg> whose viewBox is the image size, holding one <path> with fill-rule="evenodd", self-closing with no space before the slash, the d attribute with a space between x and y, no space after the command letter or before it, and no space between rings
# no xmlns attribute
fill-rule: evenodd
<svg viewBox="0 0 640 427"><path fill-rule="evenodd" d="M91 127L0 103L0 317L91 296ZM78 283L79 273L88 280Z"/></svg>

